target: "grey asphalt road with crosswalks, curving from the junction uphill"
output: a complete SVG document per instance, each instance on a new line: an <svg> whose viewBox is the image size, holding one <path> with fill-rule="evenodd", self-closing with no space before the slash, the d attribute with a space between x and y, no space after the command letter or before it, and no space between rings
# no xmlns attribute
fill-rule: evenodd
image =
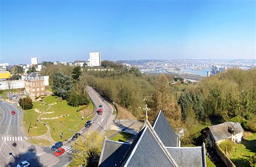
<svg viewBox="0 0 256 167"><path fill-rule="evenodd" d="M113 107L93 90L87 87L89 96L95 104L95 112L92 121L95 122L90 128L82 128L79 130L82 134L89 134L95 130L104 135L106 130L110 129L111 122L114 119ZM17 100L16 100L17 102ZM103 114L98 115L96 110L99 105L103 105ZM16 111L15 115L11 115L11 110ZM66 166L72 161L72 148L69 142L64 142L63 148L67 150L66 154L59 157L53 155L54 151L50 147L37 146L27 142L28 137L23 127L23 111L17 106L17 103L10 104L0 101L0 166L16 166L15 158L10 156L12 153L17 163L29 161L31 166ZM72 129L72 127L70 127ZM75 133L75 132L74 132ZM71 143L71 139L68 139ZM13 147L12 143L16 142L17 147Z"/></svg>

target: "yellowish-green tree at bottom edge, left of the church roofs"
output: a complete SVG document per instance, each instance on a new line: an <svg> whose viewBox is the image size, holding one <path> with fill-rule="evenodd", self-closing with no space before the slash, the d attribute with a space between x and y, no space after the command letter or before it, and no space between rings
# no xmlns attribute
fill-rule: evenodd
<svg viewBox="0 0 256 167"><path fill-rule="evenodd" d="M86 135L85 140L78 140L73 146L75 153L73 153L74 166L97 166L102 149L103 138L94 132L90 136Z"/></svg>

